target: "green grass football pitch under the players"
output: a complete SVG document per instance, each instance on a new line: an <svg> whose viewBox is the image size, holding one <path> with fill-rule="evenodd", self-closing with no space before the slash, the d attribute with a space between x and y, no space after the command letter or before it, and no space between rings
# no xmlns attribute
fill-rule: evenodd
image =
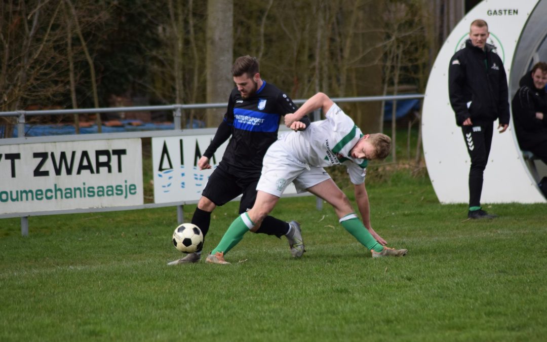
<svg viewBox="0 0 547 342"><path fill-rule="evenodd" d="M166 266L181 256L175 208L31 217L27 237L1 219L0 340L544 340L547 205L464 221L426 177L390 175L369 179L373 227L404 258L372 259L312 197L274 212L302 222L304 257L248 233L228 266ZM217 208L206 251L236 211Z"/></svg>

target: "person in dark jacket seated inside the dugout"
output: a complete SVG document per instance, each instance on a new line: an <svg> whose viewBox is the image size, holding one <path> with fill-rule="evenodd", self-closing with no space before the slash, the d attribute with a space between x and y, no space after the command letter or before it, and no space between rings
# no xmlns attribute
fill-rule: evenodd
<svg viewBox="0 0 547 342"><path fill-rule="evenodd" d="M520 79L513 97L515 134L522 150L547 164L547 63L538 62Z"/></svg>

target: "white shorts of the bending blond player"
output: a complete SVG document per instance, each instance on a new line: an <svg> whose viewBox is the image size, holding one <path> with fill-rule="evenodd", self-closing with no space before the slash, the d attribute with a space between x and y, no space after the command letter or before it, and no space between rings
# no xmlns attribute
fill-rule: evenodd
<svg viewBox="0 0 547 342"><path fill-rule="evenodd" d="M257 190L281 197L290 182L294 183L296 192L302 193L327 179L330 176L323 167L302 163L285 149L282 140L278 140L264 156Z"/></svg>

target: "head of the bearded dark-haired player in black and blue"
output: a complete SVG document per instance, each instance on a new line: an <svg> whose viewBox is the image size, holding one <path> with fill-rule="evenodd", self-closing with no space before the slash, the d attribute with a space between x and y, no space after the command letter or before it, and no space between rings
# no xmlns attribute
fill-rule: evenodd
<svg viewBox="0 0 547 342"><path fill-rule="evenodd" d="M232 66L232 76L241 97L251 97L258 90L260 82L260 66L256 57L237 57Z"/></svg>

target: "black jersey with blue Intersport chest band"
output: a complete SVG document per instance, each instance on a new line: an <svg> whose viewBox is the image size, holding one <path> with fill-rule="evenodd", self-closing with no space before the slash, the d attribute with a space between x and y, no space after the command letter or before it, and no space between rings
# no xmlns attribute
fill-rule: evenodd
<svg viewBox="0 0 547 342"><path fill-rule="evenodd" d="M293 101L275 85L263 82L249 98L241 97L237 87L232 90L224 120L203 155L211 158L217 148L231 135L219 167L237 177L260 177L266 150L277 140L282 115L298 109ZM310 125L309 118L301 120Z"/></svg>

